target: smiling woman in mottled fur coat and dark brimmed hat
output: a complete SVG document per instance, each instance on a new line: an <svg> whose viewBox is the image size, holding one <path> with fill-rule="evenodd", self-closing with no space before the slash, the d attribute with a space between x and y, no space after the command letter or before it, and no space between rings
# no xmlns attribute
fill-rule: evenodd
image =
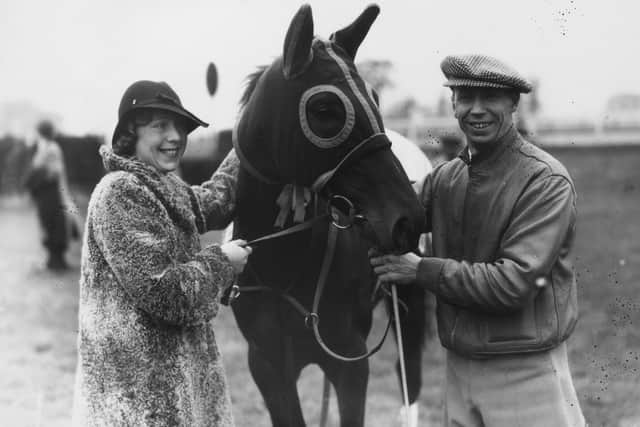
<svg viewBox="0 0 640 427"><path fill-rule="evenodd" d="M122 97L107 175L87 213L80 278L74 424L232 426L210 321L251 252L201 248L199 233L234 211L237 159L202 186L173 172L186 137L207 126L164 82Z"/></svg>

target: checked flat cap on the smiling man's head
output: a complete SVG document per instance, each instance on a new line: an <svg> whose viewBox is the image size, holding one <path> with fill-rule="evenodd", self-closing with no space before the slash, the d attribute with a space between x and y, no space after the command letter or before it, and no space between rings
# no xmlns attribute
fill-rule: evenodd
<svg viewBox="0 0 640 427"><path fill-rule="evenodd" d="M485 55L447 56L440 68L448 87L495 87L529 93L532 86L527 79L502 61Z"/></svg>

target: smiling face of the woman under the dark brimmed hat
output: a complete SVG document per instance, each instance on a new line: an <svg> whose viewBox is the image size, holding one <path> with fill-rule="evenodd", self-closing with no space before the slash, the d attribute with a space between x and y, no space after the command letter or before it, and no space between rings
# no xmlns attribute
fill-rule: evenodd
<svg viewBox="0 0 640 427"><path fill-rule="evenodd" d="M159 172L178 168L187 145L187 132L180 116L168 111L154 112L151 121L136 129L135 157Z"/></svg>

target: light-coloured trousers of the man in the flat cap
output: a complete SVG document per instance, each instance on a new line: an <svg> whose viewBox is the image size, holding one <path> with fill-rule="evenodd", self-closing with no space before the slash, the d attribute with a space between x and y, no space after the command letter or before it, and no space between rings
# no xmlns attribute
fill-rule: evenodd
<svg viewBox="0 0 640 427"><path fill-rule="evenodd" d="M567 346L472 360L447 351L445 425L582 427Z"/></svg>

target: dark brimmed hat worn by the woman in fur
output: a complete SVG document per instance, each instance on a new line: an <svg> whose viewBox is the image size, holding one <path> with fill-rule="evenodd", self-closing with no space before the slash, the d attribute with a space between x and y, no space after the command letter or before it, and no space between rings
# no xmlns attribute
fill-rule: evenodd
<svg viewBox="0 0 640 427"><path fill-rule="evenodd" d="M167 83L140 80L129 86L122 95L118 108L118 124L113 131L112 142L120 136L122 126L131 113L147 108L171 111L186 118L187 133L191 133L198 126L209 126L182 106L180 97Z"/></svg>

